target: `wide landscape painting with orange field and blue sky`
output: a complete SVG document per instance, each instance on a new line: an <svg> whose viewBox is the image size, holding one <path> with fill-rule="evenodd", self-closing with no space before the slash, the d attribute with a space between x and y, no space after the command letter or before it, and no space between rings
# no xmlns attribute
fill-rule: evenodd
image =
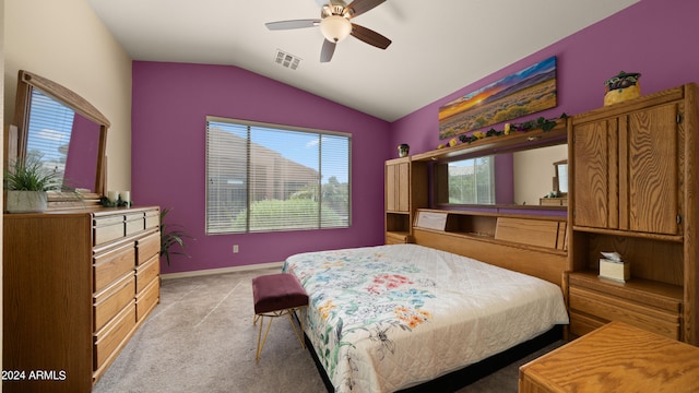
<svg viewBox="0 0 699 393"><path fill-rule="evenodd" d="M439 139L556 107L556 57L439 108Z"/></svg>

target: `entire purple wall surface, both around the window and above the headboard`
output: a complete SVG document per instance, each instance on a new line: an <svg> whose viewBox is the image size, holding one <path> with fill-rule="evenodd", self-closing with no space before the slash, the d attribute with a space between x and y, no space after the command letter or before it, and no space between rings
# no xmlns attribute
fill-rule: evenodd
<svg viewBox="0 0 699 393"><path fill-rule="evenodd" d="M542 59L557 57L558 107L530 118L580 114L603 104L604 81L641 72L642 94L699 82L699 1L642 0L389 124L235 67L134 62L132 195L174 207L173 223L197 237L190 260L164 273L283 261L295 252L369 246L383 240L383 162L395 146L433 150L439 107ZM204 236L205 116L353 133L353 226L350 229ZM530 118L518 119L517 122ZM495 126L501 128L501 126ZM233 245L240 252L233 254Z"/></svg>

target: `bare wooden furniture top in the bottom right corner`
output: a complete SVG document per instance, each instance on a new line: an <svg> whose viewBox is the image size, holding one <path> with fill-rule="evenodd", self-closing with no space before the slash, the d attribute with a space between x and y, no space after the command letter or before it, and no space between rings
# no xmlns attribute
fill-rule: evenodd
<svg viewBox="0 0 699 393"><path fill-rule="evenodd" d="M519 392L699 391L699 348L611 322L520 368Z"/></svg>

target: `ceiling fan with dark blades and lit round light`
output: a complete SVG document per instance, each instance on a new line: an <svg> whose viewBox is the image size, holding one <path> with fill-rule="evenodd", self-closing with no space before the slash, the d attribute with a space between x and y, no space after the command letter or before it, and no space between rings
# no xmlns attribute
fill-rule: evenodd
<svg viewBox="0 0 699 393"><path fill-rule="evenodd" d="M331 0L322 5L319 20L280 21L265 23L264 25L271 31L320 26L320 31L325 37L320 51L320 62L329 62L335 52L336 44L348 35L381 49L386 49L391 45L391 40L379 33L351 22L352 19L370 11L384 1L354 0L350 4L345 4L341 0Z"/></svg>

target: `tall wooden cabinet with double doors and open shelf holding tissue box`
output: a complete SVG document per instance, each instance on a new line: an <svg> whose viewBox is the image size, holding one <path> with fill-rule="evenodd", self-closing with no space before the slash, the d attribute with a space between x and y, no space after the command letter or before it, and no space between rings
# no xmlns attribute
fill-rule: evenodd
<svg viewBox="0 0 699 393"><path fill-rule="evenodd" d="M573 336L623 321L699 344L696 97L686 84L570 118ZM602 251L631 278L597 277Z"/></svg>

